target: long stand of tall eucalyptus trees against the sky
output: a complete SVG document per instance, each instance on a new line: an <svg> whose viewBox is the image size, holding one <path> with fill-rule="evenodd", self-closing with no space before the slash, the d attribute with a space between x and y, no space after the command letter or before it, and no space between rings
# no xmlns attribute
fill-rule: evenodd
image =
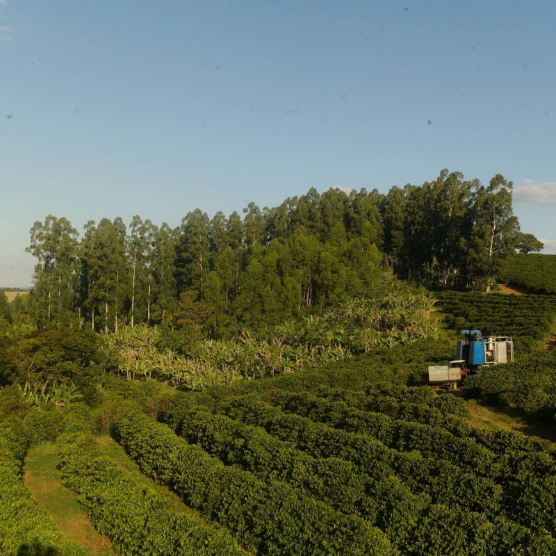
<svg viewBox="0 0 556 556"><path fill-rule="evenodd" d="M448 170L386 195L311 188L243 215L197 208L177 228L137 215L127 226L91 220L80 236L48 215L31 229L28 310L39 329L168 323L225 338L382 295L393 276L484 288L506 256L541 247L519 229L511 181L484 186Z"/></svg>

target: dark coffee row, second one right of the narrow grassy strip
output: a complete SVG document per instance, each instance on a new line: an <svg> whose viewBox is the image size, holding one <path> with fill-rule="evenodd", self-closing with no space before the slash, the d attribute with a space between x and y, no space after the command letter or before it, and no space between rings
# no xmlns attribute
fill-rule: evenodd
<svg viewBox="0 0 556 556"><path fill-rule="evenodd" d="M477 525L480 523L484 530L491 527L484 516L431 504L429 496L411 493L395 477L371 478L357 473L347 461L310 457L260 427L243 425L223 415L192 411L183 418L181 434L227 465L252 471L266 482L287 482L344 512L357 512L383 530L400 554L452 553L454 538L461 539L463 544L457 550L465 553L470 547L484 544ZM449 537L430 534L431 516L440 513L443 523L451 524ZM462 531L470 521L473 528Z"/></svg>

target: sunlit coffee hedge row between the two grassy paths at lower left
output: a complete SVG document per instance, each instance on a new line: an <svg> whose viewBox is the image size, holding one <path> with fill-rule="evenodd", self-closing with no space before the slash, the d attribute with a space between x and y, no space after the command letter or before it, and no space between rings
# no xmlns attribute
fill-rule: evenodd
<svg viewBox="0 0 556 556"><path fill-rule="evenodd" d="M81 429L79 423L68 428ZM92 434L65 432L58 446L63 484L76 494L97 531L122 556L245 554L229 532L175 511L165 496L117 466L102 454Z"/></svg>

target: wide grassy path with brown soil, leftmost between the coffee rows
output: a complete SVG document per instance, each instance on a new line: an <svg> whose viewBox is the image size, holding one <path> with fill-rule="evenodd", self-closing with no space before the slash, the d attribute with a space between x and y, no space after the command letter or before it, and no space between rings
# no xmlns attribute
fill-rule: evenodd
<svg viewBox="0 0 556 556"><path fill-rule="evenodd" d="M74 494L60 482L56 469L56 444L35 446L25 459L24 481L33 498L51 514L68 539L83 546L90 556L117 556L111 542L97 533Z"/></svg>

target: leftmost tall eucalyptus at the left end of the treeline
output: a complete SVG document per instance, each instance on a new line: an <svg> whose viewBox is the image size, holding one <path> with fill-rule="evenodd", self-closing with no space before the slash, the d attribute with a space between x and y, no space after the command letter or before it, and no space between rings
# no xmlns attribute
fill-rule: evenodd
<svg viewBox="0 0 556 556"><path fill-rule="evenodd" d="M69 220L48 215L31 228L26 252L38 259L33 277L33 313L39 328L76 325L78 233Z"/></svg>

